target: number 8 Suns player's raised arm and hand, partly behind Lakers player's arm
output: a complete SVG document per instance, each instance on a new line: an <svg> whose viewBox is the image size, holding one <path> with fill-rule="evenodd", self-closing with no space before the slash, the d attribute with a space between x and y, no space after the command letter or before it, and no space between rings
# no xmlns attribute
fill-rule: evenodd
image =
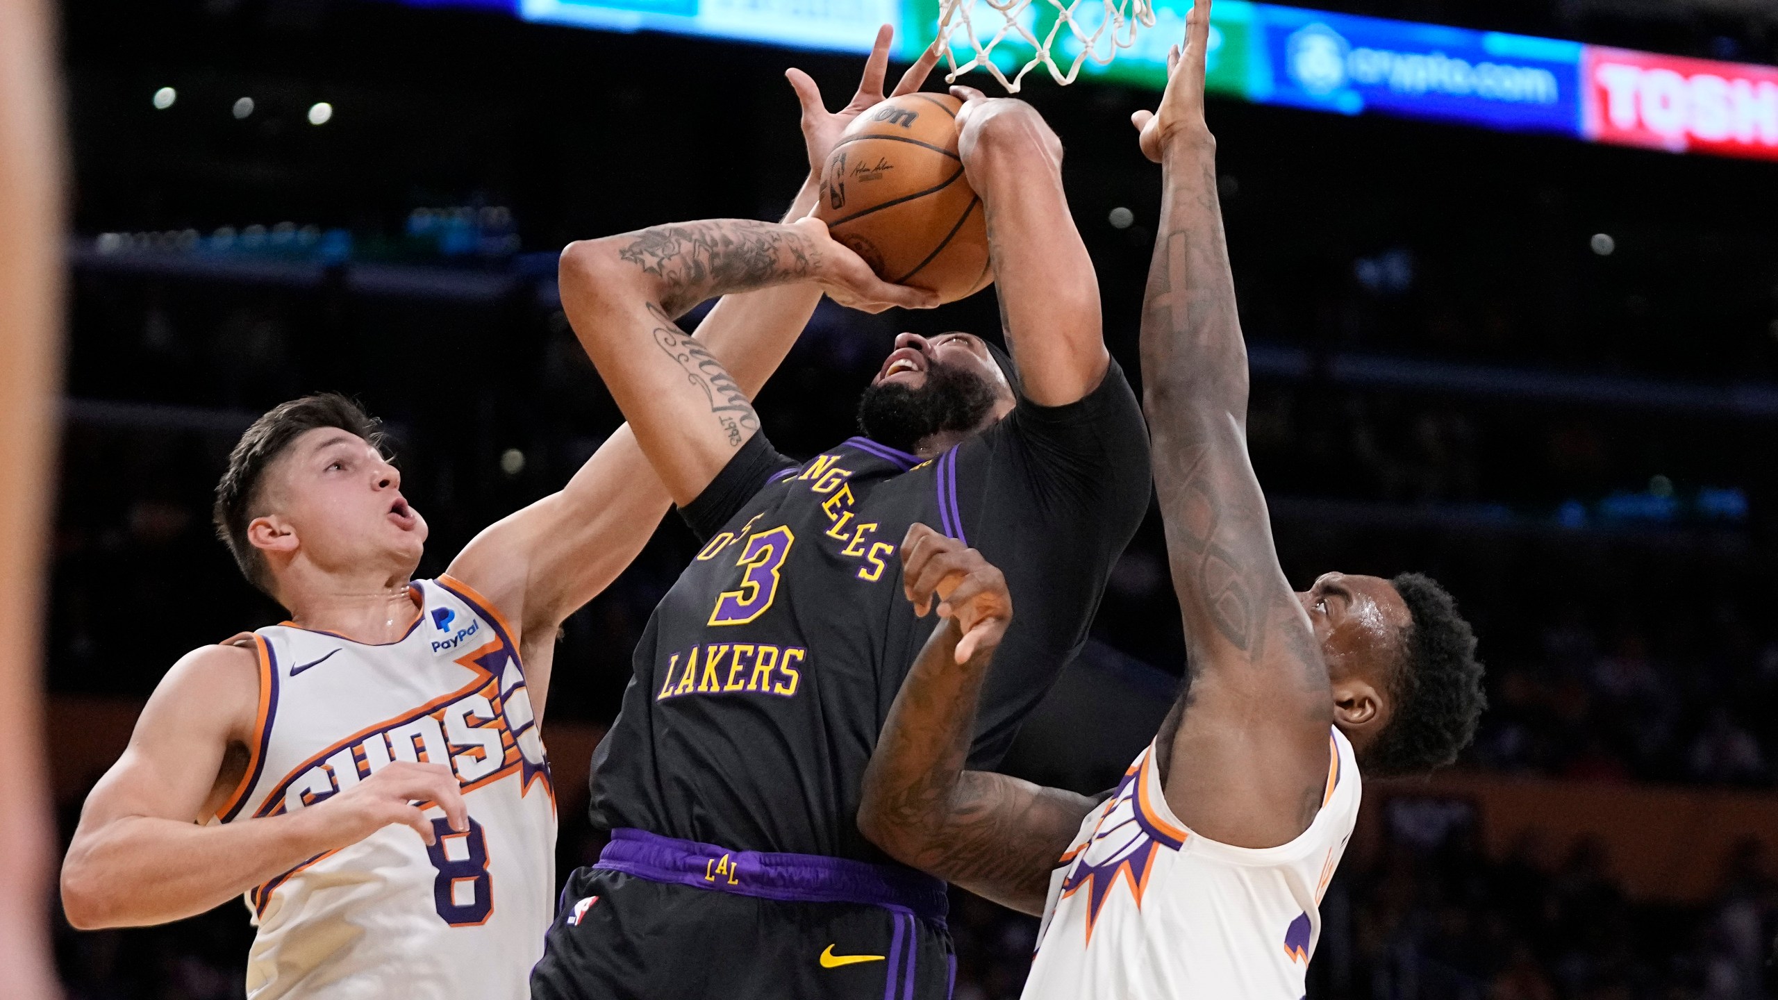
<svg viewBox="0 0 1778 1000"><path fill-rule="evenodd" d="M818 165L846 125L884 100L891 32L877 36L852 101L839 112L821 105L821 93L800 69L789 80L802 103L802 132L811 171L784 215L802 219L814 206ZM937 60L923 55L901 77L896 93L917 89ZM695 343L722 365L747 399L757 395L821 301L813 283L777 285L724 295L697 327ZM619 427L562 488L478 534L450 566L450 575L487 596L516 623L525 648L526 685L539 719L544 714L549 646L567 616L597 596L642 552L672 498L637 443Z"/></svg>

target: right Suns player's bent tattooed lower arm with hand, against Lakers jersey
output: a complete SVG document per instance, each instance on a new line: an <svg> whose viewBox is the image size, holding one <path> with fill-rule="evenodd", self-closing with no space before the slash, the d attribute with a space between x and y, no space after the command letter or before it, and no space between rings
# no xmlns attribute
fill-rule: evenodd
<svg viewBox="0 0 1778 1000"><path fill-rule="evenodd" d="M903 587L939 626L919 651L864 770L859 833L891 858L1024 913L1044 911L1049 874L1093 801L964 770L989 662L1012 621L999 569L926 525L901 543Z"/></svg>

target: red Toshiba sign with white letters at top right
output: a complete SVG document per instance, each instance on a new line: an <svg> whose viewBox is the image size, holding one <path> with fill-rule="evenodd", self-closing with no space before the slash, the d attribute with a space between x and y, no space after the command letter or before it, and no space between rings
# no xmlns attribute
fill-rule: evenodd
<svg viewBox="0 0 1778 1000"><path fill-rule="evenodd" d="M1778 160L1778 69L1588 46L1586 137Z"/></svg>

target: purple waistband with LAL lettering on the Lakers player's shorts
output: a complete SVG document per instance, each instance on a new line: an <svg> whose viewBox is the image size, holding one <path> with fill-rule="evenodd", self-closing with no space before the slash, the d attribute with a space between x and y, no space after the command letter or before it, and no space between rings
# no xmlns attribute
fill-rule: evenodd
<svg viewBox="0 0 1778 1000"><path fill-rule="evenodd" d="M949 899L944 883L912 868L866 865L818 854L729 851L715 843L674 840L644 829L617 827L594 868L624 872L651 883L672 883L759 899L859 902L901 909L944 923Z"/></svg>

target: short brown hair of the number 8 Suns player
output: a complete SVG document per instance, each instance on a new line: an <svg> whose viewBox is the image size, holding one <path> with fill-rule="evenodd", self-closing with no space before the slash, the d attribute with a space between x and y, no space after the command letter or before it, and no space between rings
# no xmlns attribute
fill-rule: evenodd
<svg viewBox="0 0 1778 1000"><path fill-rule="evenodd" d="M235 443L235 450L228 456L228 470L217 482L217 502L212 509L217 537L235 555L235 564L247 582L267 594L272 594L272 580L265 555L247 541L247 523L252 521L260 502L260 480L292 441L316 427L338 427L382 450L379 429L382 422L364 413L356 400L340 393L306 395L281 402L254 420Z"/></svg>

